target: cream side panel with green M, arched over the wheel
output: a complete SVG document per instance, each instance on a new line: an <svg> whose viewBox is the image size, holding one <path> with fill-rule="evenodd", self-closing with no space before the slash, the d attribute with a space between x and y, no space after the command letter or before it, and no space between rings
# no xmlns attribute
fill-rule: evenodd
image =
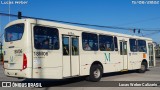
<svg viewBox="0 0 160 90"><path fill-rule="evenodd" d="M106 56L106 54L109 54ZM99 61L103 65L104 73L115 72L123 69L123 63L118 52L107 51L82 51L81 75L89 75L91 64Z"/></svg>

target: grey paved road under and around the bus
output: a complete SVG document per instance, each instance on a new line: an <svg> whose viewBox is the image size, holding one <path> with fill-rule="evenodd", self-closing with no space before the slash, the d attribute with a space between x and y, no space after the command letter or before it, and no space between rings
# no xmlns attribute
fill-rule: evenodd
<svg viewBox="0 0 160 90"><path fill-rule="evenodd" d="M0 81L28 81L33 82L33 80L24 80L6 77L3 73L2 65L0 65ZM154 68L150 68L146 73L140 74L135 71L129 71L124 73L108 73L104 74L101 82L88 82L84 78L72 78L66 80L43 80L43 83L48 87L44 88L18 88L23 90L28 89L41 89L41 90L110 90L110 89L119 89L119 90L128 90L128 89L141 89L141 90L159 90L160 87L101 87L105 84L112 84L113 82L106 81L160 81L160 59L157 59L157 65ZM104 84L104 85L103 85ZM85 86L85 87L84 87ZM98 87L97 87L98 86ZM12 90L17 88L0 88L5 90Z"/></svg>

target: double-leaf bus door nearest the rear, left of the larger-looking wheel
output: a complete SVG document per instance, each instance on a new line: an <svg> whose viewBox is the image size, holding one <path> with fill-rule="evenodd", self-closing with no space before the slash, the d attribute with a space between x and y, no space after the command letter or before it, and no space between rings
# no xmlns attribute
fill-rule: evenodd
<svg viewBox="0 0 160 90"><path fill-rule="evenodd" d="M63 77L79 75L79 37L62 36Z"/></svg>

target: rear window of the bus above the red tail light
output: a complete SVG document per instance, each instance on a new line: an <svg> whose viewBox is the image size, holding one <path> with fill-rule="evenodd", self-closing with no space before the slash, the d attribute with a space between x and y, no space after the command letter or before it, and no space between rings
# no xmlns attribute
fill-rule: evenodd
<svg viewBox="0 0 160 90"><path fill-rule="evenodd" d="M23 36L23 32L24 32L23 23L9 26L5 29L5 41L11 42L20 40Z"/></svg>

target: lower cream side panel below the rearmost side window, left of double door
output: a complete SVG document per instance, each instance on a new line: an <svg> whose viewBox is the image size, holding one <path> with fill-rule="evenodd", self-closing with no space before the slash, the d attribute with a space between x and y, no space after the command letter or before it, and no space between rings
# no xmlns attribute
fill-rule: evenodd
<svg viewBox="0 0 160 90"><path fill-rule="evenodd" d="M47 51L43 50L43 52ZM50 51L48 56L44 57L33 54L33 78L61 79L62 56L60 53L60 51Z"/></svg>

